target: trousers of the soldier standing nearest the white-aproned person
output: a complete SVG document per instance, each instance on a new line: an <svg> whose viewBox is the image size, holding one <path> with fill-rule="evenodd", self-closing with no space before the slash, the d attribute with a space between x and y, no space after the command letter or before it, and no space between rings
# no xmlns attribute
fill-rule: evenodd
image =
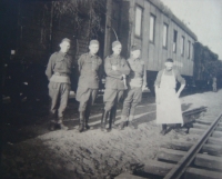
<svg viewBox="0 0 222 179"><path fill-rule="evenodd" d="M134 116L135 107L141 101L142 89L141 87L131 87L128 89L127 97L123 102L122 116Z"/></svg>

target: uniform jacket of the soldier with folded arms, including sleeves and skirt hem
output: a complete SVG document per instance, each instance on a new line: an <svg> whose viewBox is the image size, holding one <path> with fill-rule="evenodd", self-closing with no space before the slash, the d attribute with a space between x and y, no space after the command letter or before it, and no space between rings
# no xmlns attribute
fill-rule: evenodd
<svg viewBox="0 0 222 179"><path fill-rule="evenodd" d="M117 66L117 70L112 70L112 66ZM128 76L130 68L124 58L111 54L104 60L104 71L107 73L105 88L124 90L122 74Z"/></svg>

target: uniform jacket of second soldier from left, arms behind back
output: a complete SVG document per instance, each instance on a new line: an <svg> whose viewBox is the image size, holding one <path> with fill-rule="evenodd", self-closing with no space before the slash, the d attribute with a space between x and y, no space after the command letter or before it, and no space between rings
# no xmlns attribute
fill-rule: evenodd
<svg viewBox="0 0 222 179"><path fill-rule="evenodd" d="M98 56L92 56L90 52L82 54L79 60L79 87L91 89L99 88L99 80L102 73L102 60Z"/></svg>

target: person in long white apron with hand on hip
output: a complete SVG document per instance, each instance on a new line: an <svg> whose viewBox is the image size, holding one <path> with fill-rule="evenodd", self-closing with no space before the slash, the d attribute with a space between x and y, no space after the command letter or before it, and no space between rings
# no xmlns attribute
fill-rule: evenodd
<svg viewBox="0 0 222 179"><path fill-rule="evenodd" d="M175 91L176 81L181 83ZM168 123L183 125L180 93L185 87L185 80L173 69L173 60L165 60L165 68L159 71L155 80L157 123L162 125L162 135L167 133Z"/></svg>

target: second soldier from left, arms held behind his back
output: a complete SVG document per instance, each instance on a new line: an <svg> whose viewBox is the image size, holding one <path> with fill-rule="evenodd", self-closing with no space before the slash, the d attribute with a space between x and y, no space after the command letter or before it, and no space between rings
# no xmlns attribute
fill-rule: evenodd
<svg viewBox="0 0 222 179"><path fill-rule="evenodd" d="M99 89L99 80L102 72L102 60L100 57L97 56L97 52L99 50L99 41L91 40L89 49L90 52L82 54L78 60L80 78L77 90L77 100L80 102L80 132L82 132L84 128L90 129L88 125L90 109L91 106L94 103Z"/></svg>

